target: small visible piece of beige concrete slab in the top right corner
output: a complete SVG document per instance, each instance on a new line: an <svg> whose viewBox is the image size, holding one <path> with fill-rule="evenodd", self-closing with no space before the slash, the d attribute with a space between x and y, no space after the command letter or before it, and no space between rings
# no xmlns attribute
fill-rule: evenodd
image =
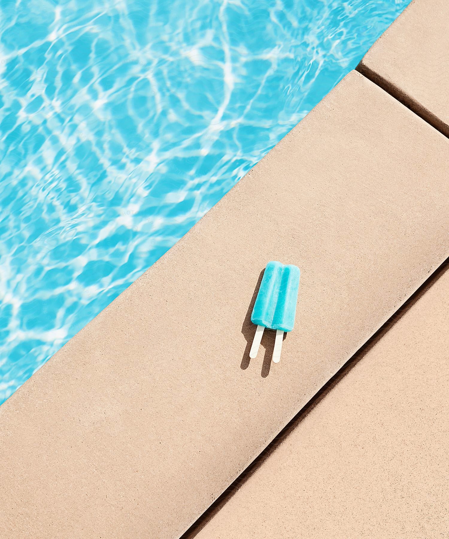
<svg viewBox="0 0 449 539"><path fill-rule="evenodd" d="M449 136L447 0L413 0L357 69Z"/></svg>

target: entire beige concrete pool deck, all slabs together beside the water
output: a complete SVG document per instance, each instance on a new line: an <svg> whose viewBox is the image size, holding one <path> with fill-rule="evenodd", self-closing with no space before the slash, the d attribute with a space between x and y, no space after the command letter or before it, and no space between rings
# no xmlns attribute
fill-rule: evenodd
<svg viewBox="0 0 449 539"><path fill-rule="evenodd" d="M0 537L179 537L447 258L448 5L412 2L362 60L364 74L349 73L0 406ZM272 259L302 272L278 365L270 331L248 357ZM320 537L439 533L445 316L447 272L198 539L298 537L291 496L308 508L301 526ZM418 410L416 399L427 404ZM345 528L349 519L360 525Z"/></svg>

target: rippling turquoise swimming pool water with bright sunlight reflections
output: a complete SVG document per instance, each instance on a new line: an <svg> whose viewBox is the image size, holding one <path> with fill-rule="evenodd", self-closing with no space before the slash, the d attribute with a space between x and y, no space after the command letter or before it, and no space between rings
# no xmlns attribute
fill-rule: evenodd
<svg viewBox="0 0 449 539"><path fill-rule="evenodd" d="M2 0L0 403L408 3Z"/></svg>

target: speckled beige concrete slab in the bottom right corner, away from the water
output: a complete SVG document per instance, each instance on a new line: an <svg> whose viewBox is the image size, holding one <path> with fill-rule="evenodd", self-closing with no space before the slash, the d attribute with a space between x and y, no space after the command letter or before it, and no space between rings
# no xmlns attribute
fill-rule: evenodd
<svg viewBox="0 0 449 539"><path fill-rule="evenodd" d="M447 537L448 416L449 268L191 537Z"/></svg>

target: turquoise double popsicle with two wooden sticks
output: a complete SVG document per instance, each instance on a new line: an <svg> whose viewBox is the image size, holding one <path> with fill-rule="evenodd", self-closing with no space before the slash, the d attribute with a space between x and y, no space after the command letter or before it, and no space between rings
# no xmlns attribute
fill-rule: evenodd
<svg viewBox="0 0 449 539"><path fill-rule="evenodd" d="M255 299L251 322L257 326L250 357L257 356L264 329L275 329L273 362L281 358L284 331L292 331L298 301L299 267L268 262Z"/></svg>

